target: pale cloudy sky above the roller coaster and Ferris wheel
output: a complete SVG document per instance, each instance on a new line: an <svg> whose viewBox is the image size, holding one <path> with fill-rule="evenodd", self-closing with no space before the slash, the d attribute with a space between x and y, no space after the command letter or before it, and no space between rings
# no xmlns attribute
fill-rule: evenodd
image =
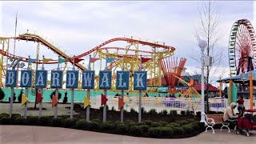
<svg viewBox="0 0 256 144"><path fill-rule="evenodd" d="M250 1L217 1L216 4L221 14L219 30L223 34L218 45L223 46L227 54L231 26L242 18L253 22L254 5ZM197 26L198 6L201 5L202 2L186 1L1 2L0 35L14 36L15 14L18 10L18 34L29 30L43 35L70 55L82 54L110 38L130 35L174 46L174 56L187 58L186 67L198 70L196 67L200 63L192 62L190 54L191 51L200 54L192 32ZM126 46L126 42L112 43L110 46ZM33 42L17 42L19 55L26 57L30 54L35 57L35 51L36 44ZM42 54L57 58L43 46L40 51ZM228 66L227 59L225 65Z"/></svg>

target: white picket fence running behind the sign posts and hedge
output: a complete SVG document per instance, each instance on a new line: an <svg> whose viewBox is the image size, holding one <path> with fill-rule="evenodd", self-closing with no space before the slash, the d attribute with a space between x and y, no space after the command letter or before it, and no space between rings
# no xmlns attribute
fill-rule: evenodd
<svg viewBox="0 0 256 144"><path fill-rule="evenodd" d="M90 106L92 108L98 109L101 105L101 98L100 97L94 97L90 99ZM138 97L133 98L124 98L124 102L126 103L124 106L124 110L130 111L130 109L134 109L138 111ZM256 100L254 99L254 109L256 109L255 106ZM109 106L110 109L114 107L114 110L118 110L118 98L108 98L108 101L106 104ZM222 98L222 99L209 99L209 107L211 111L222 111L226 109L228 106L228 99ZM250 109L250 100L245 99L244 106L246 109ZM150 97L142 97L142 107L147 112L151 109L155 109L156 111L160 112L162 110L167 110L168 112L170 110L193 110L194 112L201 111L202 105L201 105L201 99L191 99L191 98L150 98Z"/></svg>

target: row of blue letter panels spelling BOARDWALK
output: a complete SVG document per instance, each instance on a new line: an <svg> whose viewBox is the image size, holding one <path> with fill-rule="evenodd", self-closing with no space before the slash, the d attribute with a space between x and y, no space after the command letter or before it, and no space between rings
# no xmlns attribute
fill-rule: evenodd
<svg viewBox="0 0 256 144"><path fill-rule="evenodd" d="M32 85L32 71L22 70L20 72L20 86L30 87ZM47 86L47 70L35 70L35 88L46 88ZM146 90L146 71L134 71L134 90ZM78 88L78 70L66 71L66 88ZM129 89L129 71L117 71L116 89ZM112 71L99 71L99 89L110 90L112 87ZM50 72L50 88L62 89L63 70L51 70ZM18 84L18 70L7 70L6 87L16 87ZM95 70L82 71L82 89L94 89L95 86Z"/></svg>

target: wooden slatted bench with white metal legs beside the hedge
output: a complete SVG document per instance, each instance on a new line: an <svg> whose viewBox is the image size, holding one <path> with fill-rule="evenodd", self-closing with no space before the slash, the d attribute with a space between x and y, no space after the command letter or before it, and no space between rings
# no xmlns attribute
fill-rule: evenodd
<svg viewBox="0 0 256 144"><path fill-rule="evenodd" d="M208 128L211 128L213 130L213 134L215 134L215 131L214 131L214 125L216 124L222 124L222 127L221 127L221 131L222 131L222 128L226 127L230 133L230 122L223 122L223 114L205 114L205 117L206 117L206 132L208 130Z"/></svg>

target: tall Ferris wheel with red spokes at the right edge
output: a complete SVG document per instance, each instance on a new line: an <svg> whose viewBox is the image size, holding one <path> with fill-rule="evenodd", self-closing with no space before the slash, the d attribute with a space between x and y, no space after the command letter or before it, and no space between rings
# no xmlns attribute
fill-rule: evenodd
<svg viewBox="0 0 256 144"><path fill-rule="evenodd" d="M247 19L234 22L229 44L230 75L238 75L256 66L256 43L254 27Z"/></svg>

